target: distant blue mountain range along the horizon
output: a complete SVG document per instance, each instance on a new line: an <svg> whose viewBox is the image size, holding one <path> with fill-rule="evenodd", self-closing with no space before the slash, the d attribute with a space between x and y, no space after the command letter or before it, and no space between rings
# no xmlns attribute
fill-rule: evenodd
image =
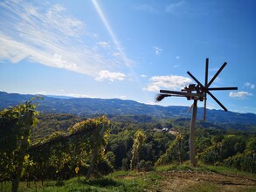
<svg viewBox="0 0 256 192"><path fill-rule="evenodd" d="M14 106L30 100L35 95L0 92L0 109ZM188 106L157 106L147 105L134 100L122 99L92 99L92 98L66 98L43 96L39 100L38 110L43 113L73 113L82 116L107 114L107 115L148 115L159 118L190 118L187 113ZM199 107L197 119L203 119L203 108ZM222 110L207 109L207 120L215 123L256 125L256 114L233 113Z"/></svg>

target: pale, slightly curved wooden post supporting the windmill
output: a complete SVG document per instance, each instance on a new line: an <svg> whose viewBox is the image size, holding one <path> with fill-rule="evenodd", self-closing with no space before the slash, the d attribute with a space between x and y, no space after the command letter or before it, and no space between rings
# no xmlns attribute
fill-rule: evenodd
<svg viewBox="0 0 256 192"><path fill-rule="evenodd" d="M197 166L196 150L195 150L196 120L197 120L197 99L194 99L192 119L190 122L190 163L193 167Z"/></svg>

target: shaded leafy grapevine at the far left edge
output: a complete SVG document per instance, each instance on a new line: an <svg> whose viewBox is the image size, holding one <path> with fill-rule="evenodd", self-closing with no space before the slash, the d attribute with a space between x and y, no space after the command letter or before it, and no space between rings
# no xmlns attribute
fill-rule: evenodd
<svg viewBox="0 0 256 192"><path fill-rule="evenodd" d="M27 149L31 144L31 128L38 123L35 99L0 112L0 181L12 181L12 190L17 186L23 165L29 167Z"/></svg>

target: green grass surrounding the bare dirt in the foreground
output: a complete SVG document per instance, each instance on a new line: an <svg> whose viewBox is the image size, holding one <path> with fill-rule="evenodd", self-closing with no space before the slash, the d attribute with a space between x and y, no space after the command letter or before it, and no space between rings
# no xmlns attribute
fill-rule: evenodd
<svg viewBox="0 0 256 192"><path fill-rule="evenodd" d="M242 177L249 178L256 183L256 175L246 172L241 172L232 168L206 166L199 164L197 168L190 167L189 163L185 162L182 165L171 164L168 166L160 166L155 168L154 171L150 172L133 172L133 171L116 171L110 175L103 176L92 181L86 181L85 177L73 178L62 183L62 185L57 186L56 182L49 181L45 182L44 186L41 182L31 182L31 186L27 188L26 182L21 182L19 185L19 191L28 192L66 192L66 191L99 191L99 192L114 192L114 191L157 191L164 188L163 183L169 181L170 178L166 178L164 173L168 171L203 171L203 172L214 172L220 175L239 175ZM171 178L172 179L172 178ZM182 178L181 178L182 179ZM171 181L171 180L170 180ZM173 181L173 180L172 180ZM172 182L167 182L168 185L172 185ZM61 183L60 183L61 184ZM0 185L1 188L1 185ZM10 191L11 183L7 182L3 184L3 190ZM186 191L219 191L221 190L221 185L216 183L205 183L205 182L195 182L194 185L189 186ZM256 191L256 186L251 186L243 191Z"/></svg>

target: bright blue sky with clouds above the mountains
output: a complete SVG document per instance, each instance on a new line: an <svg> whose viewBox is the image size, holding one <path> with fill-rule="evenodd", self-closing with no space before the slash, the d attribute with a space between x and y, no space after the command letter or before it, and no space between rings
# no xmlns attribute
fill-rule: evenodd
<svg viewBox="0 0 256 192"><path fill-rule="evenodd" d="M160 89L204 83L231 111L256 113L253 0L0 2L0 90L154 104ZM208 108L220 109L209 97ZM190 106L184 98L163 106ZM199 103L203 106L203 102Z"/></svg>

